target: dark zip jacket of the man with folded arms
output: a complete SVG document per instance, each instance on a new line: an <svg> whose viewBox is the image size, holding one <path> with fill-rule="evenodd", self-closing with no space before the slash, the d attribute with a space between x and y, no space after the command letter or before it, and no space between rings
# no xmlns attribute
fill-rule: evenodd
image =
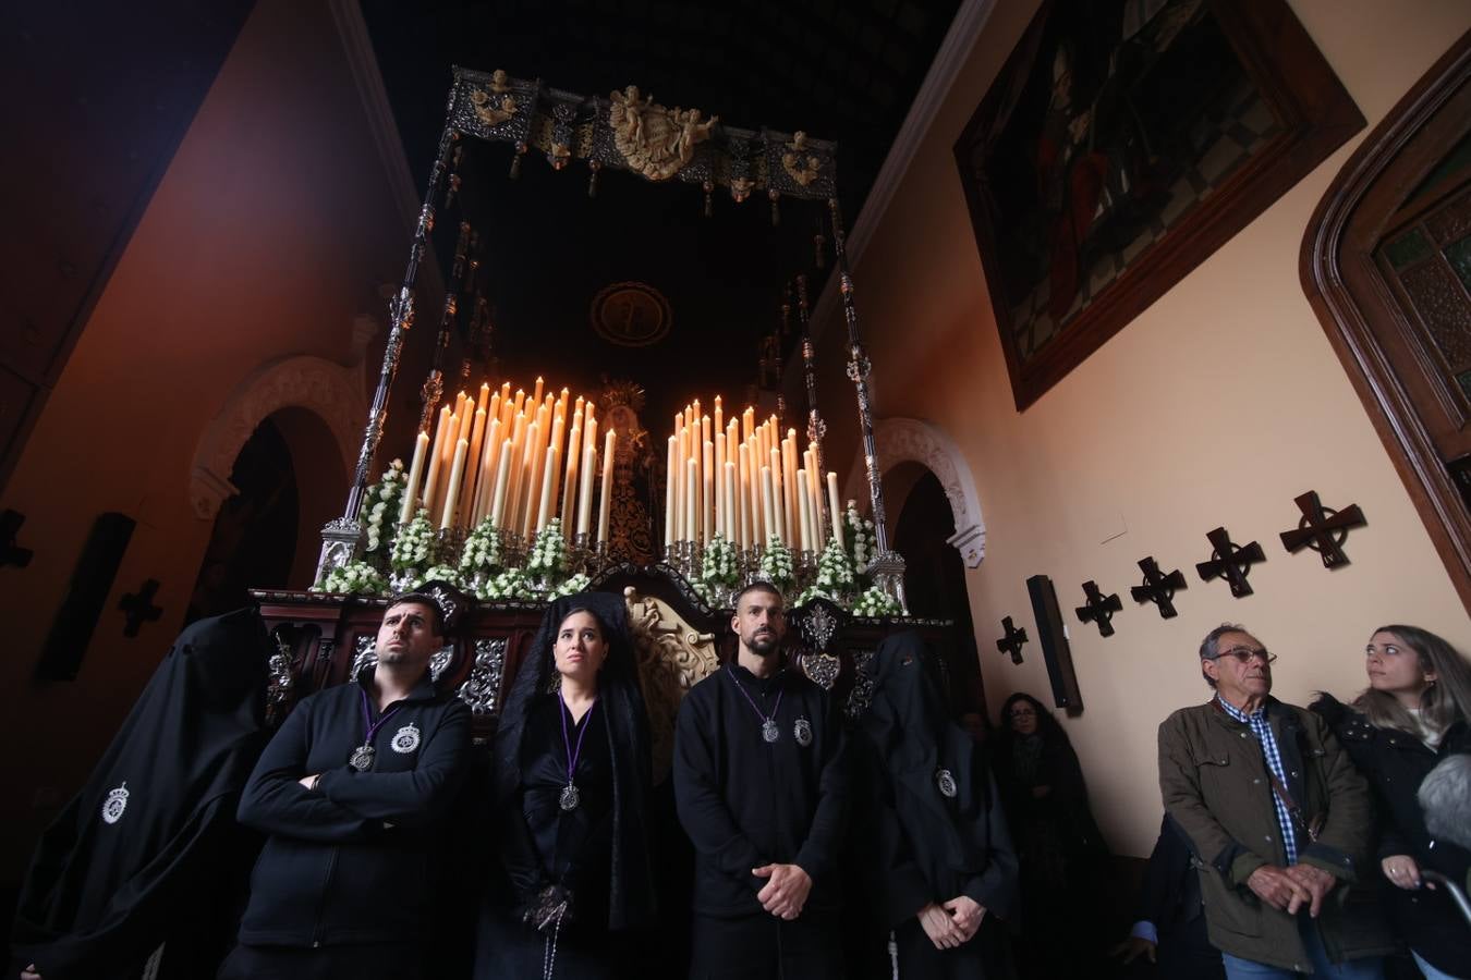
<svg viewBox="0 0 1471 980"><path fill-rule="evenodd" d="M244 943L425 934L431 861L468 761L469 710L425 673L375 733L372 768L359 773L347 758L363 741L371 671L296 705L250 776L240 821L271 836L250 877ZM313 773L322 774L316 790L297 782Z"/></svg>

